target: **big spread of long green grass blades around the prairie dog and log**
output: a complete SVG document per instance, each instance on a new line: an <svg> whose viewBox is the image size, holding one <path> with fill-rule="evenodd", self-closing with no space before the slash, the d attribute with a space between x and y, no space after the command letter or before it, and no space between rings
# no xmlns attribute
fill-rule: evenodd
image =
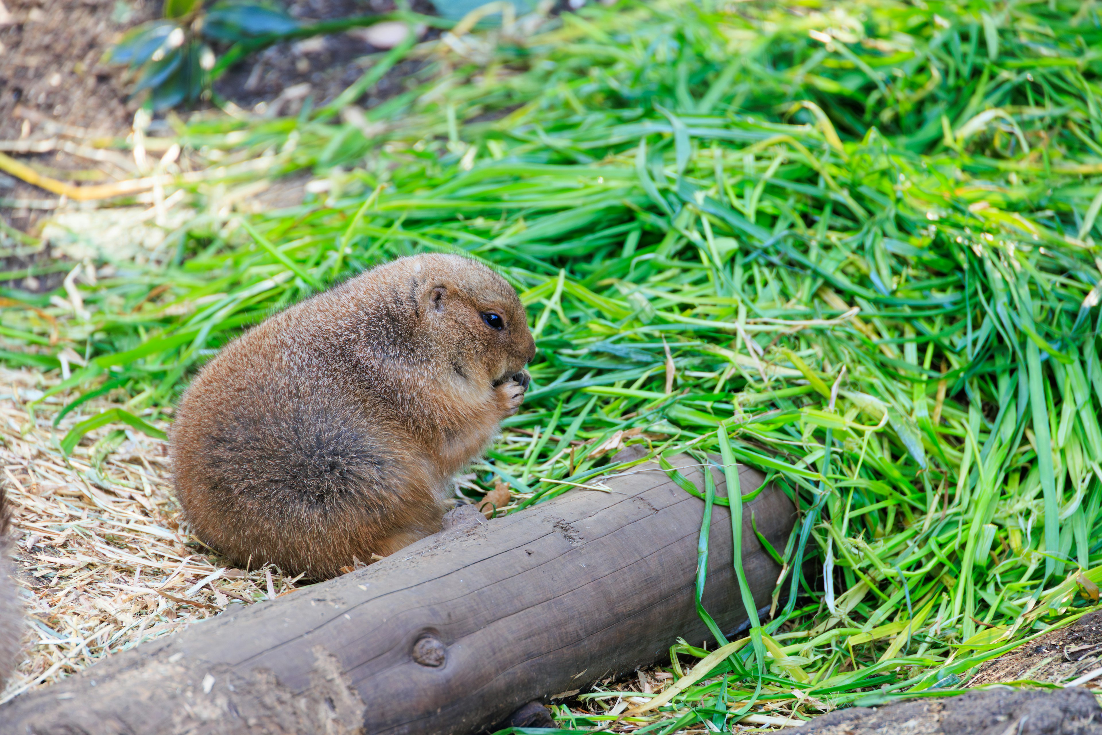
<svg viewBox="0 0 1102 735"><path fill-rule="evenodd" d="M169 267L82 287L87 322L6 293L42 311L6 309L2 357L72 344L91 358L72 387L117 380L150 420L242 326L396 256L465 252L516 285L539 348L506 422L530 434L475 466L483 487L545 501L638 428L799 495L788 602L657 721L624 722L951 687L1102 583L1102 30L1063 0L790 7L585 9L437 63L368 114L389 126L370 141L310 110L181 125L331 188L240 220L210 196Z"/></svg>

